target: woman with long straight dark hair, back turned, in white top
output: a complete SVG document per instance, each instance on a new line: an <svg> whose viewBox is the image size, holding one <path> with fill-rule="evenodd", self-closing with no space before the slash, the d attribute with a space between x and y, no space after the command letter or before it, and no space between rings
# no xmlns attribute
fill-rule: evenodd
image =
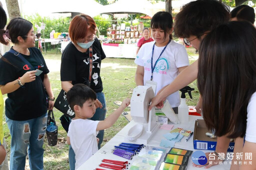
<svg viewBox="0 0 256 170"><path fill-rule="evenodd" d="M232 161L241 165L232 163L230 170L255 170L255 46L254 26L247 21L231 21L208 33L199 48L197 85L205 124L215 129L217 137L236 138ZM227 150L229 142L227 139L220 145ZM237 153L242 155L239 160ZM218 162L219 155L215 154Z"/></svg>

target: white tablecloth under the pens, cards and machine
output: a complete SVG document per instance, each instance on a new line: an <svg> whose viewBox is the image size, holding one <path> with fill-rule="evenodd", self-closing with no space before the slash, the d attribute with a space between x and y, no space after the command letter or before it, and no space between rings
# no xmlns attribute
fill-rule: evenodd
<svg viewBox="0 0 256 170"><path fill-rule="evenodd" d="M183 128L187 130L194 130L194 121L196 119L202 119L200 116L189 116L189 122L186 124L178 124L174 125L172 129L175 128ZM128 123L120 132L118 132L109 142L107 142L100 150L98 150L92 157L90 157L79 169L77 170L95 170L95 168L100 168L98 165L101 164L103 159L109 159L109 160L118 160L118 161L128 161L124 158L118 157L116 155L113 155L111 153L112 149L114 148L115 145L119 145L121 142L127 142L131 143L130 141L126 141L124 137L126 136L128 130L134 125L135 123L131 121ZM154 147L159 147L160 141L162 139L165 139L163 137L164 134L168 133L168 130L163 130L159 129L155 136L151 139L149 142L148 146L154 146ZM181 142L176 142L174 147L175 148L181 148L181 149L186 149L186 150L191 150L191 151L198 151L193 149L193 137L191 137L188 142L185 142L186 138L183 138ZM200 150L203 151L204 153L206 152L212 152L212 151L206 151L206 150ZM136 157L136 156L135 156ZM133 160L135 159L133 157ZM132 163L132 161L128 161L129 163ZM106 168L101 168L101 169L106 169ZM195 168L192 167L192 160L189 158L189 162L187 165L186 170L201 170L202 168ZM212 166L210 170L229 170L230 165L217 165L217 166ZM106 169L109 170L109 169Z"/></svg>

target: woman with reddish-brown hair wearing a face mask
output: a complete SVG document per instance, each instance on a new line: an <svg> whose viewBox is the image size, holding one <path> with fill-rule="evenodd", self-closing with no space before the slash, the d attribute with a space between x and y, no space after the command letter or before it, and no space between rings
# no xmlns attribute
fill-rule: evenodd
<svg viewBox="0 0 256 170"><path fill-rule="evenodd" d="M91 120L101 121L105 118L106 107L105 97L102 93L103 86L100 78L100 64L101 60L106 56L99 40L95 37L96 29L94 20L86 14L77 15L71 20L68 30L71 42L62 53L60 80L61 88L65 92L77 83L88 85L97 96L95 103L97 109ZM92 54L91 76L89 76L90 54ZM103 134L104 131L102 130L97 135L99 139L98 149L102 143ZM74 170L75 159L71 147L68 158L70 170Z"/></svg>

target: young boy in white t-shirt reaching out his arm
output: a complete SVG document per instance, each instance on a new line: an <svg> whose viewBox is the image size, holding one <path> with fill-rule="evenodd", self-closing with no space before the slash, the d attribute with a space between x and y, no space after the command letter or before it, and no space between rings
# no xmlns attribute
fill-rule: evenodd
<svg viewBox="0 0 256 170"><path fill-rule="evenodd" d="M84 84L75 84L66 94L67 102L74 111L67 133L66 142L71 145L75 153L75 170L78 169L98 150L97 133L110 128L129 105L130 99L122 104L103 121L89 120L95 113L96 94Z"/></svg>

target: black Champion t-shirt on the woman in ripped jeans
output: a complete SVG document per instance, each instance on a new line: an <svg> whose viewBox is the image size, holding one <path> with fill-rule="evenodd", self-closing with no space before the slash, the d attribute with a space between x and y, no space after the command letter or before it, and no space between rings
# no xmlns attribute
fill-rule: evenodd
<svg viewBox="0 0 256 170"><path fill-rule="evenodd" d="M30 55L21 54L34 67L31 69L18 56L6 52L0 59L0 85L21 77L27 71L39 69L43 71L35 80L25 83L14 92L8 93L5 100L5 115L11 120L23 121L40 117L47 112L46 94L43 87L44 74L49 72L41 52L35 48L28 48Z"/></svg>

